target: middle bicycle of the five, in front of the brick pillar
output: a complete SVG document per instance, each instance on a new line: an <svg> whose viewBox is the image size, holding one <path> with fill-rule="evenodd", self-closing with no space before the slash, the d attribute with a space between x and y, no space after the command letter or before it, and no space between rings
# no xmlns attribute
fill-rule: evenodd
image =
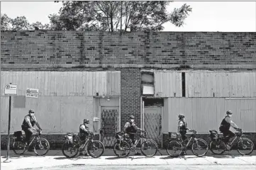
<svg viewBox="0 0 256 170"><path fill-rule="evenodd" d="M133 145L132 140L130 140L130 136L127 134L124 134L123 132L117 132L116 133L116 140L115 144L113 145L113 152L118 157L128 157L130 152L135 152L136 149L138 149L137 145L141 141L141 147L140 151L143 153L145 157L153 157L158 151L157 143L154 140L146 139L147 136L146 131L140 132L139 139L135 140L135 145ZM145 140L143 142L143 140ZM148 154L148 151L151 148L155 147L155 151L152 152L152 154ZM121 151L121 154L118 152Z"/></svg>

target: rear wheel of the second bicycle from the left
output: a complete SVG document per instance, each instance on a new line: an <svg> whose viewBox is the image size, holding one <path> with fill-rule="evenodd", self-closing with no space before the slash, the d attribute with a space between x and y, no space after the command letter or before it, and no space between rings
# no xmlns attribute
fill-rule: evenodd
<svg viewBox="0 0 256 170"><path fill-rule="evenodd" d="M79 147L77 147L76 143L65 141L62 145L62 154L65 155L67 158L75 157L79 152Z"/></svg>

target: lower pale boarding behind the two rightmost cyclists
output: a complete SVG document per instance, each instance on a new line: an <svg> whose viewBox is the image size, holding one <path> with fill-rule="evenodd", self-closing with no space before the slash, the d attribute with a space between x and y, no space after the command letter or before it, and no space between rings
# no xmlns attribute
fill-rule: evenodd
<svg viewBox="0 0 256 170"><path fill-rule="evenodd" d="M169 132L177 132L179 114L184 114L189 128L198 132L218 130L228 110L233 111L233 121L244 132L256 132L256 99L168 98L167 101L168 111L163 119L169 118Z"/></svg>

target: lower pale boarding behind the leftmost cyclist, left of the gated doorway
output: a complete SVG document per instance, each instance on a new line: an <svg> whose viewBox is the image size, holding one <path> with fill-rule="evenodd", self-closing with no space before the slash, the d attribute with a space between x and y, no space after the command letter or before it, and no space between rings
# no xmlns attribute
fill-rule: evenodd
<svg viewBox="0 0 256 170"><path fill-rule="evenodd" d="M93 97L39 96L26 98L26 108L11 108L11 132L21 130L23 118L33 108L43 132L78 132L84 118L93 120ZM9 97L1 97L1 132L8 132Z"/></svg>

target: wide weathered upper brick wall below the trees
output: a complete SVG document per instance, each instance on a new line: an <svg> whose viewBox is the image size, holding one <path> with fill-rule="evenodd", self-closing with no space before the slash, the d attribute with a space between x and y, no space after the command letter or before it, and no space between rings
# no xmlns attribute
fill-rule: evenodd
<svg viewBox="0 0 256 170"><path fill-rule="evenodd" d="M180 67L255 69L256 33L4 31L3 69ZM243 66L241 66L243 65Z"/></svg>

